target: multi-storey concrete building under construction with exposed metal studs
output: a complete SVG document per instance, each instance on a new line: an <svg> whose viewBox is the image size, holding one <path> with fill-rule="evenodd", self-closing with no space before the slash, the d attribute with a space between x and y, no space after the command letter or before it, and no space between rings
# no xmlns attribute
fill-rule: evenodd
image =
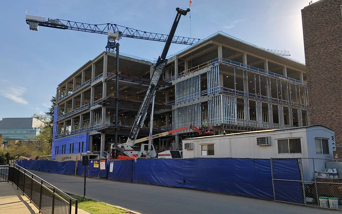
<svg viewBox="0 0 342 214"><path fill-rule="evenodd" d="M118 77L116 62L115 54L103 52L58 85L53 157L108 151L115 132L119 143L127 141L154 62L121 54ZM169 57L157 86L153 134L188 125L206 124L213 134L222 134L309 121L303 63L217 32ZM147 137L149 127L148 113L137 138ZM182 139L195 135L183 130L153 144L157 151L178 149Z"/></svg>

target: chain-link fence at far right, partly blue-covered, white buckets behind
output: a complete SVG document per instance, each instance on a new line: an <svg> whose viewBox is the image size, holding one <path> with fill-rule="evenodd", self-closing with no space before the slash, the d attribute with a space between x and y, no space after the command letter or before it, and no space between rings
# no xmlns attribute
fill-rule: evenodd
<svg viewBox="0 0 342 214"><path fill-rule="evenodd" d="M290 160L271 158L275 201L342 210L342 160Z"/></svg>

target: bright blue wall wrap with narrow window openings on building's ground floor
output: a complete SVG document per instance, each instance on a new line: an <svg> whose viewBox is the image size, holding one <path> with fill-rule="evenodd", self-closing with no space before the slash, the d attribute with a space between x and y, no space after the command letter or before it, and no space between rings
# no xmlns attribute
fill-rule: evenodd
<svg viewBox="0 0 342 214"><path fill-rule="evenodd" d="M64 150L62 151L62 148L64 148L64 146L65 146L65 153L64 153ZM71 147L71 150L70 150L70 147ZM83 134L78 134L78 135L64 137L64 138L55 140L52 143L51 156L52 156L52 159L55 159L56 155L78 154L82 152L87 152L87 150L89 150L89 134L83 133Z"/></svg>

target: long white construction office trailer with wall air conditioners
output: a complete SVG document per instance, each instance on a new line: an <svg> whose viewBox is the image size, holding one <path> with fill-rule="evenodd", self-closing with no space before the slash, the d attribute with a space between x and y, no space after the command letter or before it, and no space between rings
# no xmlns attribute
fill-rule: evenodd
<svg viewBox="0 0 342 214"><path fill-rule="evenodd" d="M183 158L329 158L334 131L321 125L184 139Z"/></svg>

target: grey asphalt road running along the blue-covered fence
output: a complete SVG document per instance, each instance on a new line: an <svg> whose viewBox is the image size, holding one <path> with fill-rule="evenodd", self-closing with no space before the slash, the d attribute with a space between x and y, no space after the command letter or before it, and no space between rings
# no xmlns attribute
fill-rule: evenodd
<svg viewBox="0 0 342 214"><path fill-rule="evenodd" d="M83 195L83 179L38 171L32 173L68 193ZM86 196L140 213L337 214L338 211L155 185L87 178Z"/></svg>

